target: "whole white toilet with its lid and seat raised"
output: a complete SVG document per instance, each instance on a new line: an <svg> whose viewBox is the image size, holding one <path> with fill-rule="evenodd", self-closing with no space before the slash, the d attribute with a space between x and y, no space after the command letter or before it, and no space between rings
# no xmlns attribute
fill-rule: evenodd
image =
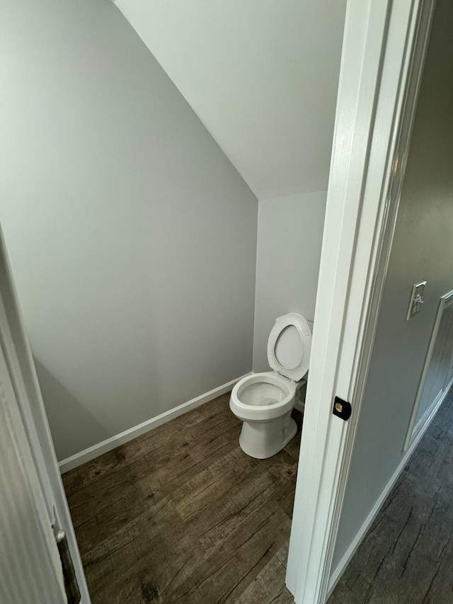
<svg viewBox="0 0 453 604"><path fill-rule="evenodd" d="M301 314L277 317L268 339L273 371L243 377L234 386L229 406L242 424L239 445L264 460L282 450L297 432L291 411L309 368L311 328Z"/></svg>

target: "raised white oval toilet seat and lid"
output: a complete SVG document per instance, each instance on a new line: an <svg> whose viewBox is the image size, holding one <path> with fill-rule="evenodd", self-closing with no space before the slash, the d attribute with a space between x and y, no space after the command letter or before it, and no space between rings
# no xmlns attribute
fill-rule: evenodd
<svg viewBox="0 0 453 604"><path fill-rule="evenodd" d="M301 314L277 317L268 339L268 361L274 371L299 382L309 370L311 329Z"/></svg>

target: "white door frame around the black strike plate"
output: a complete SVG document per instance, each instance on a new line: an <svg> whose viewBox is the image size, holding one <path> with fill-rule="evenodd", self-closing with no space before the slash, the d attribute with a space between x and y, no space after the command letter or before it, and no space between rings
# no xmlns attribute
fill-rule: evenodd
<svg viewBox="0 0 453 604"><path fill-rule="evenodd" d="M435 0L348 0L287 586L323 604ZM333 399L352 404L345 422ZM338 580L338 576L334 579Z"/></svg>

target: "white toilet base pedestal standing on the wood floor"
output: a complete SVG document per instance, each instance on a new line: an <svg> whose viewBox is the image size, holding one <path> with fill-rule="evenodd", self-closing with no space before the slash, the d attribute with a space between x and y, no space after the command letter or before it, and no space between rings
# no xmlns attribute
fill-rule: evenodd
<svg viewBox="0 0 453 604"><path fill-rule="evenodd" d="M265 460L286 447L296 432L297 426L291 412L271 421L244 421L239 445L250 457Z"/></svg>

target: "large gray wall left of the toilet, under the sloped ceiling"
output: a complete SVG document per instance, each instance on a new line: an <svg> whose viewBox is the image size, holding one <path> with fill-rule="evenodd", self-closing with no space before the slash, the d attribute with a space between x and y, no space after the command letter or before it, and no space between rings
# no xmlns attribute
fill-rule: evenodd
<svg viewBox="0 0 453 604"><path fill-rule="evenodd" d="M251 370L257 200L110 0L3 7L0 220L61 460Z"/></svg>

